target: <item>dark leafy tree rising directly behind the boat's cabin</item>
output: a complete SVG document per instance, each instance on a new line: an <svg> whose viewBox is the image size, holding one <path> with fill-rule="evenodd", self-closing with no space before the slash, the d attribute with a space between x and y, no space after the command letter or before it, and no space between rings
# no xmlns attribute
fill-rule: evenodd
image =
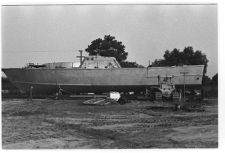
<svg viewBox="0 0 225 153"><path fill-rule="evenodd" d="M143 67L136 62L126 61L128 52L125 52L125 46L111 35L105 35L104 39L93 40L85 51L89 55L115 57L122 67Z"/></svg>

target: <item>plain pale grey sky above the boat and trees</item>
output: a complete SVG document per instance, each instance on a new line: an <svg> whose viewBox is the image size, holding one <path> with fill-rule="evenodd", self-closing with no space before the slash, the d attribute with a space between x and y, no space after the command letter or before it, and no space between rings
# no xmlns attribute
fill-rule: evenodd
<svg viewBox="0 0 225 153"><path fill-rule="evenodd" d="M128 61L144 66L192 46L206 54L212 77L217 28L217 5L2 6L2 67L79 61L78 50L110 34L126 46Z"/></svg>

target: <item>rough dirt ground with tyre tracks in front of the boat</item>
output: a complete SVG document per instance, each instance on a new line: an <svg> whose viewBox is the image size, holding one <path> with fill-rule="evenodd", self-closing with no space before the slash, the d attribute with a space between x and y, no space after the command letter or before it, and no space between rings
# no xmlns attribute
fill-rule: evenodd
<svg viewBox="0 0 225 153"><path fill-rule="evenodd" d="M217 99L204 110L131 101L83 105L83 100L3 99L3 149L217 148Z"/></svg>

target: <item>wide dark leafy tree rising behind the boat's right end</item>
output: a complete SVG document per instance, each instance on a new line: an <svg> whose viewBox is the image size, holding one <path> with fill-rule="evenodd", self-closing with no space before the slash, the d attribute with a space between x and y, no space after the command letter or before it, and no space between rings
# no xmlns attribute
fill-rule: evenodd
<svg viewBox="0 0 225 153"><path fill-rule="evenodd" d="M185 47L181 52L179 49L174 48L172 51L166 50L164 59L155 60L152 66L178 66L178 65L204 65L204 72L206 73L208 59L201 51L194 51L193 47Z"/></svg>

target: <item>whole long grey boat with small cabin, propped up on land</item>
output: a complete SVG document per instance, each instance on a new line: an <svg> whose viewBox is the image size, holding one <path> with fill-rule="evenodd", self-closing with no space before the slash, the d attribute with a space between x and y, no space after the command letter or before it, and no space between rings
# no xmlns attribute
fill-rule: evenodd
<svg viewBox="0 0 225 153"><path fill-rule="evenodd" d="M50 94L62 89L70 94L141 92L170 81L176 88L201 87L204 65L122 68L114 57L81 55L80 64L29 63L2 71L21 93Z"/></svg>

